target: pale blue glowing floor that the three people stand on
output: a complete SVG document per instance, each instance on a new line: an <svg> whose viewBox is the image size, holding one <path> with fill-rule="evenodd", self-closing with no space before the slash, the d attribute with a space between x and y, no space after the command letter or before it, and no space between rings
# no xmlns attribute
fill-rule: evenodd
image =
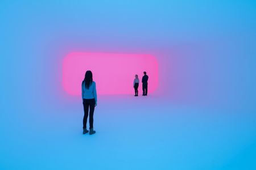
<svg viewBox="0 0 256 170"><path fill-rule="evenodd" d="M82 135L82 111L73 103L8 114L1 169L256 168L253 113L105 96L94 113L96 134Z"/></svg>

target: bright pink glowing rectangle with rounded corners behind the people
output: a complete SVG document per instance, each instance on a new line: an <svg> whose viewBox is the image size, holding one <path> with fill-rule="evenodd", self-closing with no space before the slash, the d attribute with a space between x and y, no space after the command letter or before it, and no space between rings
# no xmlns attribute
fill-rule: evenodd
<svg viewBox="0 0 256 170"><path fill-rule="evenodd" d="M148 75L148 94L158 86L158 62L148 54L69 53L63 59L63 87L70 95L81 95L81 82L91 70L98 94L133 94L134 75L139 76L142 94L143 71Z"/></svg>

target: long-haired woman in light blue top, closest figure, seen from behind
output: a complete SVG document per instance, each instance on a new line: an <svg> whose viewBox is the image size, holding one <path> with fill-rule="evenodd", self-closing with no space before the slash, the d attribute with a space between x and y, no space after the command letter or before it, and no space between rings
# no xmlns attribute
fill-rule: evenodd
<svg viewBox="0 0 256 170"><path fill-rule="evenodd" d="M90 125L90 132L89 134L96 133L93 130L93 113L94 107L97 105L97 92L96 92L96 83L93 82L92 71L88 70L85 73L84 80L82 81L82 104L84 105L84 120L83 120L83 134L89 132L86 129L88 112L89 112L89 125Z"/></svg>

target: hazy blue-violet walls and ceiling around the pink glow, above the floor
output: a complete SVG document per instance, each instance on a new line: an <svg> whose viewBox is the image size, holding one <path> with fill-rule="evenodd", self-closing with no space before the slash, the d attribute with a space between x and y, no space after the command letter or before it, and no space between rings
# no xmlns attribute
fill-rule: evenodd
<svg viewBox="0 0 256 170"><path fill-rule="evenodd" d="M154 54L158 94L255 111L254 1L0 3L1 86L10 101L31 104L38 94L44 102L59 99L61 59L80 50Z"/></svg>

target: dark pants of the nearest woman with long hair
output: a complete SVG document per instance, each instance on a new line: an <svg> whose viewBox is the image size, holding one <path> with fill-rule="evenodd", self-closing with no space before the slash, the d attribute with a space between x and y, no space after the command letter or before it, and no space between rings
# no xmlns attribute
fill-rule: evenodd
<svg viewBox="0 0 256 170"><path fill-rule="evenodd" d="M95 107L95 99L83 99L82 104L84 105L84 120L83 120L84 127L83 128L86 128L88 112L90 107L89 124L91 129L93 128L93 112Z"/></svg>

